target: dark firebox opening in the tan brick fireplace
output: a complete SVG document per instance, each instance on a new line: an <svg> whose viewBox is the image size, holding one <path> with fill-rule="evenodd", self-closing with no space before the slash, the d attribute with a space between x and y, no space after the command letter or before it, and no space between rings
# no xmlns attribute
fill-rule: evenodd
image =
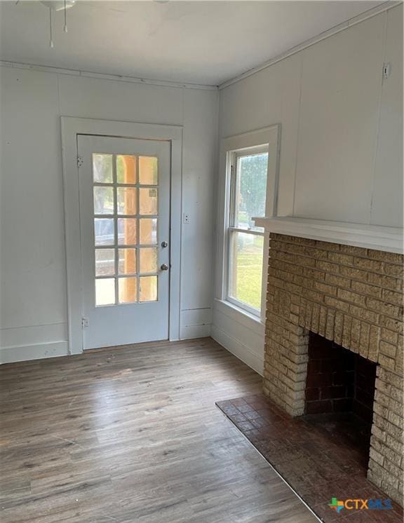
<svg viewBox="0 0 404 523"><path fill-rule="evenodd" d="M337 438L367 468L377 364L309 334L304 419Z"/></svg>

